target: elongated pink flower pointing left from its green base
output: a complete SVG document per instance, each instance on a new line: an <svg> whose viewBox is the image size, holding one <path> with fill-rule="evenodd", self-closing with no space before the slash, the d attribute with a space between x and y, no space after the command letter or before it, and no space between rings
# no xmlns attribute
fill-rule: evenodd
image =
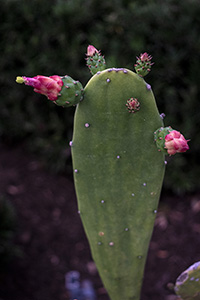
<svg viewBox="0 0 200 300"><path fill-rule="evenodd" d="M58 99L58 94L62 89L63 81L60 76L42 76L37 75L33 78L22 76L26 85L34 87L34 92L47 96L49 100Z"/></svg>

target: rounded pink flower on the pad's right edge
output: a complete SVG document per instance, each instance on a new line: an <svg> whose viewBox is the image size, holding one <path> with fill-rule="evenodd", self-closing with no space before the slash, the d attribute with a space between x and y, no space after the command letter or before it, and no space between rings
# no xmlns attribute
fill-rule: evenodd
<svg viewBox="0 0 200 300"><path fill-rule="evenodd" d="M165 148L170 155L186 152L189 149L188 141L179 131L172 130L165 136Z"/></svg>

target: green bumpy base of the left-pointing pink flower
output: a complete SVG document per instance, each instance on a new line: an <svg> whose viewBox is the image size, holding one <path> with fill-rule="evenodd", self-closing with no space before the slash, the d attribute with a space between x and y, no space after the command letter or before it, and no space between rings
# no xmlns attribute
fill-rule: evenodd
<svg viewBox="0 0 200 300"><path fill-rule="evenodd" d="M83 100L83 86L79 81L66 75L62 77L63 87L55 103L59 106L70 107Z"/></svg>

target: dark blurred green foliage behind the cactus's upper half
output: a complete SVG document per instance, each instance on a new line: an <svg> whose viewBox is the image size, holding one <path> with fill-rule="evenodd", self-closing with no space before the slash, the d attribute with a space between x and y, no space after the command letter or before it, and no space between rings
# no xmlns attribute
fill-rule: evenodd
<svg viewBox="0 0 200 300"><path fill-rule="evenodd" d="M0 136L25 140L55 171L70 169L68 142L74 109L62 109L17 75L65 75L84 85L90 78L84 54L101 49L108 66L133 69L147 51L155 66L153 87L166 126L191 139L190 151L169 158L165 187L199 187L200 5L199 0L0 0Z"/></svg>

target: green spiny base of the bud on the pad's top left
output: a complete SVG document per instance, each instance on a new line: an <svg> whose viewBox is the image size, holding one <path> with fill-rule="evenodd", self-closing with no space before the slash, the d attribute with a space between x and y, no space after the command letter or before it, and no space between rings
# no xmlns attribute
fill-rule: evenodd
<svg viewBox="0 0 200 300"><path fill-rule="evenodd" d="M92 75L95 75L99 71L105 70L106 62L100 51L95 52L93 56L87 57L87 66Z"/></svg>

